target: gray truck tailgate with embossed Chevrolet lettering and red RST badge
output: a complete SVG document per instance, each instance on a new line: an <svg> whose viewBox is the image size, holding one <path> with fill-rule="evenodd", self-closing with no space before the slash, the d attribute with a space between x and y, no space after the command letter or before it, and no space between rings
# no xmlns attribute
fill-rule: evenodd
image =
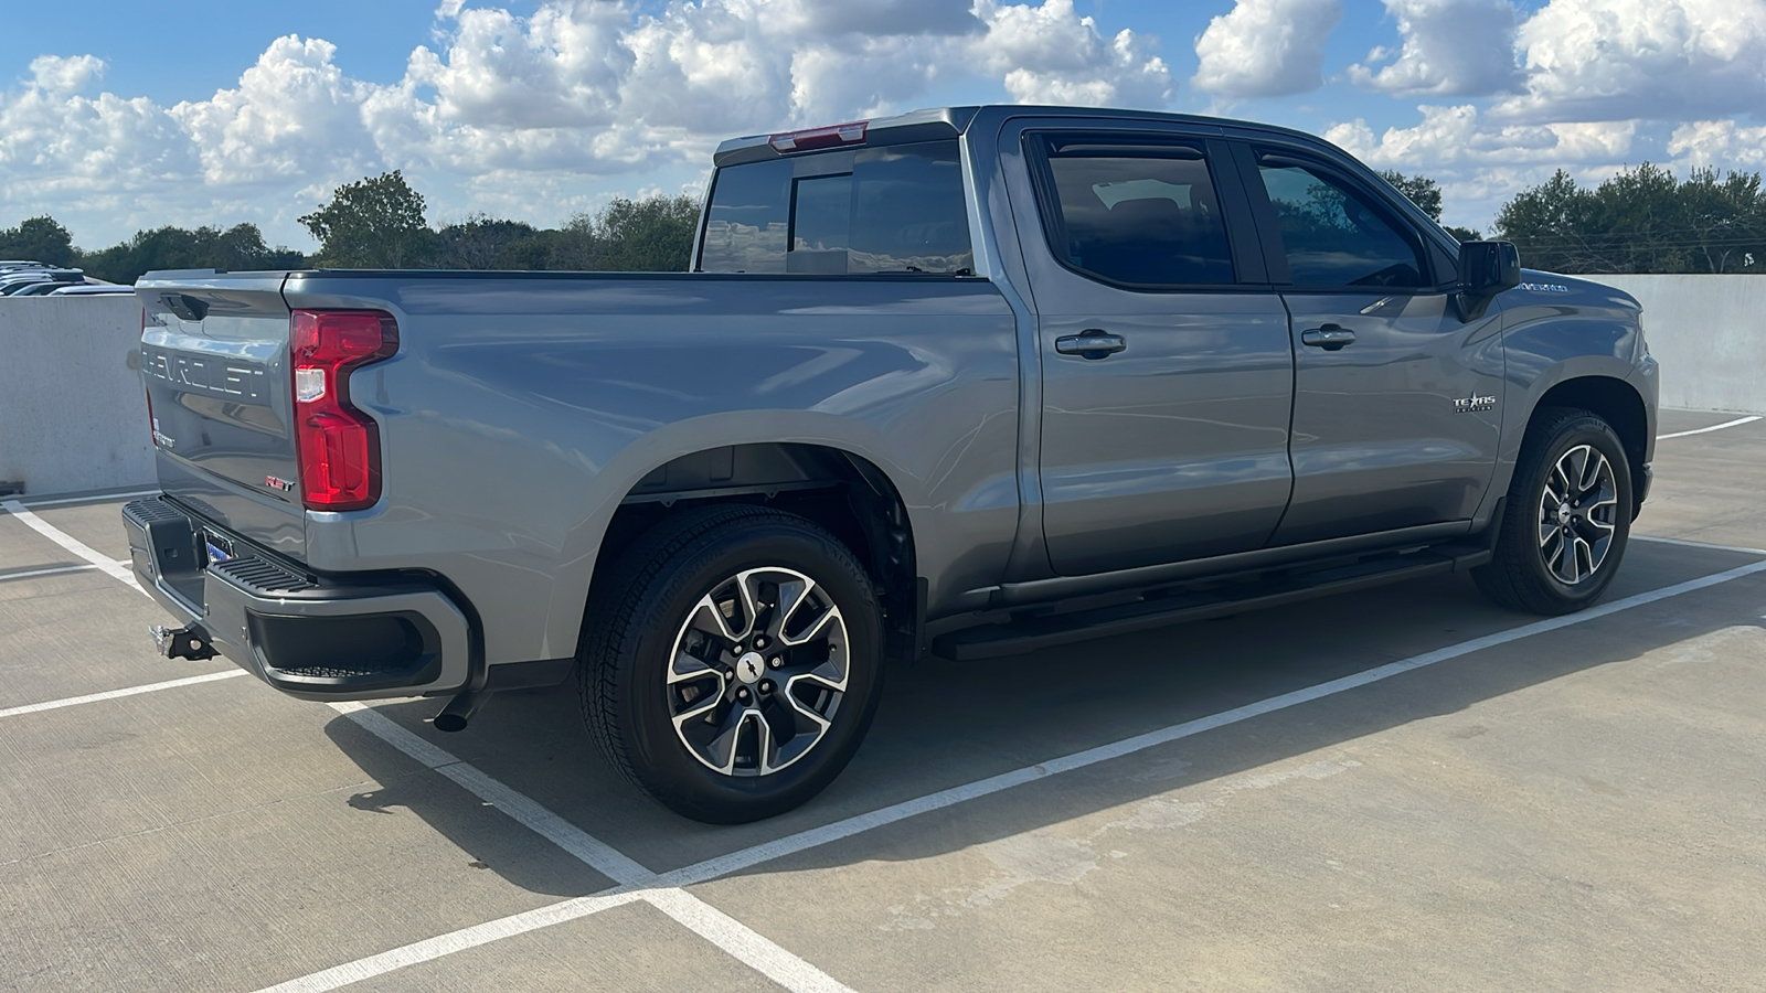
<svg viewBox="0 0 1766 993"><path fill-rule="evenodd" d="M283 272L154 272L141 371L159 484L215 525L283 555L306 550Z"/></svg>

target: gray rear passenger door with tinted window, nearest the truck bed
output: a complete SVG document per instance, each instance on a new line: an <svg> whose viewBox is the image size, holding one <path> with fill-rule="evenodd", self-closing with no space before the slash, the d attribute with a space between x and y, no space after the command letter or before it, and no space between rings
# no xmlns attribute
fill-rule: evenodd
<svg viewBox="0 0 1766 993"><path fill-rule="evenodd" d="M1293 352L1219 143L1158 125L1003 136L1019 138L1051 565L1261 548L1291 486Z"/></svg>

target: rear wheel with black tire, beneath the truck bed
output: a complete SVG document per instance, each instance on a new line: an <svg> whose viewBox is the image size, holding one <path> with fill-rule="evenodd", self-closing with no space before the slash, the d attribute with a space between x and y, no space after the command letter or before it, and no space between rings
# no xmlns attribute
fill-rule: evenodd
<svg viewBox="0 0 1766 993"><path fill-rule="evenodd" d="M796 514L703 507L639 537L613 578L590 594L577 678L590 735L632 785L743 823L841 774L883 677L878 599L844 544Z"/></svg>

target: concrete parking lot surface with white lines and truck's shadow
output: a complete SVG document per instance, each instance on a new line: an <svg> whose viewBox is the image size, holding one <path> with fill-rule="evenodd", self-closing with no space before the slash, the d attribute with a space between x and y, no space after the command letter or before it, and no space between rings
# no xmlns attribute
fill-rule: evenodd
<svg viewBox="0 0 1766 993"><path fill-rule="evenodd" d="M890 673L706 827L574 686L284 698L168 663L122 496L0 514L0 989L1759 989L1766 421L1665 412L1591 611L1464 576Z"/></svg>

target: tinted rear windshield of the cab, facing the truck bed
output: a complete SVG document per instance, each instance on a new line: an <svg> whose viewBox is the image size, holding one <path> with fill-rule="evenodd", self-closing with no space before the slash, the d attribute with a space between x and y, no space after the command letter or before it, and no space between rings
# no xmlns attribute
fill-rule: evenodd
<svg viewBox="0 0 1766 993"><path fill-rule="evenodd" d="M975 270L955 141L885 145L853 171L793 178L798 159L719 170L705 272Z"/></svg>

